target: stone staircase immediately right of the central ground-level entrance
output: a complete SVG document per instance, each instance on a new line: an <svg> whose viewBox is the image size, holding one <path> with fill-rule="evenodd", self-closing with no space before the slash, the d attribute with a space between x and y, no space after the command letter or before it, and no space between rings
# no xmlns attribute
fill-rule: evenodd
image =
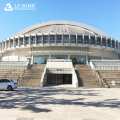
<svg viewBox="0 0 120 120"><path fill-rule="evenodd" d="M100 88L99 81L94 76L89 65L75 65L79 87ZM104 87L102 84L101 87Z"/></svg>

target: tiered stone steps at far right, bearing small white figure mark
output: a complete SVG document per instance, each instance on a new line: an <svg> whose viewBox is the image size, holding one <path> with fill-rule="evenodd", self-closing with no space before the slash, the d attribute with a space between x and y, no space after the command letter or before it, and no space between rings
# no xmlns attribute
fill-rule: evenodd
<svg viewBox="0 0 120 120"><path fill-rule="evenodd" d="M120 88L120 71L98 70L97 72L109 88ZM115 86L112 85L112 81L115 81Z"/></svg>

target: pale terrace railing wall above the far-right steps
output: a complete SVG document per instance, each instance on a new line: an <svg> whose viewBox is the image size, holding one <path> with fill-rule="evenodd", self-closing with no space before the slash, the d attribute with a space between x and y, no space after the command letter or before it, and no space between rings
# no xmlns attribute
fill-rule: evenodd
<svg viewBox="0 0 120 120"><path fill-rule="evenodd" d="M120 60L91 60L94 66L120 66Z"/></svg>

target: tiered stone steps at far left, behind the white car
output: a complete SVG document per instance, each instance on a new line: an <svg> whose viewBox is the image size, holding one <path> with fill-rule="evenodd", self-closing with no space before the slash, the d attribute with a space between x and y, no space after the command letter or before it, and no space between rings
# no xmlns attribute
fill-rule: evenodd
<svg viewBox="0 0 120 120"><path fill-rule="evenodd" d="M23 71L23 69L0 69L0 79L7 78L17 82Z"/></svg>

